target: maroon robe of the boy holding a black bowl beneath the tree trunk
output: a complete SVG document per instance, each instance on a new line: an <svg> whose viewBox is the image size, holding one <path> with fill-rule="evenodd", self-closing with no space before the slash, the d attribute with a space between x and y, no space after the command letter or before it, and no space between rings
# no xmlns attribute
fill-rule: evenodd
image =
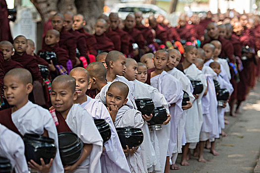
<svg viewBox="0 0 260 173"><path fill-rule="evenodd" d="M46 51L52 51L57 55L57 65L62 65L64 68L67 67L67 62L69 60L68 52L63 48L60 48L58 43L54 47L50 47L50 46L43 47L43 49L39 50L37 54L39 55L41 52L46 52Z"/></svg>

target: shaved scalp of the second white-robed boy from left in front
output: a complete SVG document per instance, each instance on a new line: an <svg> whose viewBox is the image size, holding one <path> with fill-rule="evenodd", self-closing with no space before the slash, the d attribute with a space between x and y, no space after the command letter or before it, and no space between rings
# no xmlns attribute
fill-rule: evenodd
<svg viewBox="0 0 260 173"><path fill-rule="evenodd" d="M73 93L76 91L76 80L69 75L59 75L52 81L52 87L57 84L62 83L67 86Z"/></svg>

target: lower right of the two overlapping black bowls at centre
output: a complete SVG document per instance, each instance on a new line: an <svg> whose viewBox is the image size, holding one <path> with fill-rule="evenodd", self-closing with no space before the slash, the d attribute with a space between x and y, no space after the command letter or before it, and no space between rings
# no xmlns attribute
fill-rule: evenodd
<svg viewBox="0 0 260 173"><path fill-rule="evenodd" d="M167 120L166 109L163 106L160 106L155 108L155 111L153 112L153 117L148 123L150 123L149 126L160 125L166 120Z"/></svg>

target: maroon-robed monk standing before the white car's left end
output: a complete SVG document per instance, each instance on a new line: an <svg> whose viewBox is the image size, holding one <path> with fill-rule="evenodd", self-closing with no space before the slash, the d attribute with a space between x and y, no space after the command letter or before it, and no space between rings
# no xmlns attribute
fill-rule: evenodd
<svg viewBox="0 0 260 173"><path fill-rule="evenodd" d="M120 52L124 53L125 55L129 55L129 42L130 42L130 36L127 32L121 30L118 25L119 25L119 17L117 13L110 13L109 14L109 21L110 21L110 27L108 28L106 32L106 36L112 40L112 38L115 36L114 33L119 35L120 37ZM114 41L112 40L114 43ZM114 43L115 45L115 43ZM116 45L115 45L115 50L116 50Z"/></svg>

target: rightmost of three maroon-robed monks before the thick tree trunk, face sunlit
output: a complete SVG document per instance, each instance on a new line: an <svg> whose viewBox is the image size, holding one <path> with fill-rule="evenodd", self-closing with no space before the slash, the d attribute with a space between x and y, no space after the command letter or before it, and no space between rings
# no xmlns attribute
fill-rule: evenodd
<svg viewBox="0 0 260 173"><path fill-rule="evenodd" d="M87 53L97 56L97 41L93 35L90 35L84 30L84 26L86 25L86 21L84 20L83 15L77 14L73 16L73 28L85 35L86 45L87 45Z"/></svg>

